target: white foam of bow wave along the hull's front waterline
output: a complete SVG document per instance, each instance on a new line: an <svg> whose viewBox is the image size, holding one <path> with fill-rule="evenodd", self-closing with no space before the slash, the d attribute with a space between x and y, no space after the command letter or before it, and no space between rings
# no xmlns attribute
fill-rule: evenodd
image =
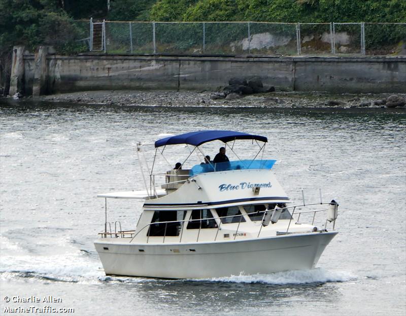
<svg viewBox="0 0 406 316"><path fill-rule="evenodd" d="M347 271L327 271L324 269L294 270L270 274L232 275L230 277L210 278L211 282L267 283L273 285L308 284L324 282L346 282L357 277Z"/></svg>

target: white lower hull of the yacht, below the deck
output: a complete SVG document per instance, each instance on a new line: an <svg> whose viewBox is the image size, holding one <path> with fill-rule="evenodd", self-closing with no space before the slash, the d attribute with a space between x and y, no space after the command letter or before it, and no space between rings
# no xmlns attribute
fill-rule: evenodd
<svg viewBox="0 0 406 316"><path fill-rule="evenodd" d="M212 278L314 268L336 234L177 244L136 244L129 243L129 239L100 238L95 247L106 275Z"/></svg>

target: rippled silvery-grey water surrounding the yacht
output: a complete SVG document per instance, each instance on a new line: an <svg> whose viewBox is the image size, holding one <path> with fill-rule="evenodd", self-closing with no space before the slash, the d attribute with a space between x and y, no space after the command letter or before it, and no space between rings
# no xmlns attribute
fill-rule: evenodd
<svg viewBox="0 0 406 316"><path fill-rule="evenodd" d="M405 314L404 111L19 103L3 104L1 118L1 314L7 306L77 315ZM321 187L325 201L340 203L340 233L316 269L208 280L100 270L93 240L104 200L96 194L143 188L137 141L205 129L268 137L268 158L278 160L274 172L294 202L301 188L317 202ZM109 220L132 229L142 202L125 202L112 204ZM31 295L62 302L5 302Z"/></svg>

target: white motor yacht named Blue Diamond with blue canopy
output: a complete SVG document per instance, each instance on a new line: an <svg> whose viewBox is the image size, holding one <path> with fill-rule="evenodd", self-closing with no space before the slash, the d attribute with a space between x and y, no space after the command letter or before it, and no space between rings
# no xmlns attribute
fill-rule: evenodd
<svg viewBox="0 0 406 316"><path fill-rule="evenodd" d="M235 159L205 161L203 147L211 142ZM240 159L237 142L257 148L256 155ZM105 224L94 245L106 275L198 279L314 268L337 234L338 204L323 203L320 193L320 201L305 203L303 196L294 205L273 173L276 161L263 159L266 143L264 136L234 131L137 143L145 189L98 195L105 199ZM155 155L148 162L144 152L151 145ZM177 145L187 150L181 167L168 161L173 151L159 165L158 157ZM188 165L195 155L202 163ZM108 220L108 199L144 200L135 229Z"/></svg>

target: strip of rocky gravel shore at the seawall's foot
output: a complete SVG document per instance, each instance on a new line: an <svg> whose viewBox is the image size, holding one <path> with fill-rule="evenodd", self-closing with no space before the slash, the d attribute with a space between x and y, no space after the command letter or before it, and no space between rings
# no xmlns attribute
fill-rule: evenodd
<svg viewBox="0 0 406 316"><path fill-rule="evenodd" d="M392 97L391 97L392 96ZM104 90L42 96L36 100L88 105L165 107L269 107L269 108L387 108L404 109L405 93L331 94L328 92L265 92L213 100L212 91ZM20 100L29 100L21 98Z"/></svg>

